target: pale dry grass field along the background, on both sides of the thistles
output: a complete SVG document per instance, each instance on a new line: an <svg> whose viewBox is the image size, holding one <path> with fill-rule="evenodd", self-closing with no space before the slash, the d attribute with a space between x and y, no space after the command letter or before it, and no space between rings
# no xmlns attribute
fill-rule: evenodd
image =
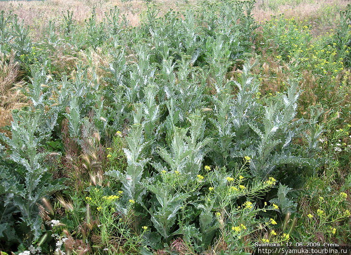
<svg viewBox="0 0 351 255"><path fill-rule="evenodd" d="M169 9L184 10L190 5L196 5L201 0L153 0L159 15L164 14ZM343 9L348 0L302 0L299 4L290 0L282 1L277 8L270 9L268 1L257 0L254 9L254 17L258 22L264 22L271 18L272 15L284 14L286 17L296 17L298 20L307 20L313 25L313 33L321 34L323 31L334 27L337 13ZM290 4L286 4L290 3ZM73 19L77 23L83 23L91 16L92 9L95 7L96 18L102 21L105 12L117 6L120 9L120 15L125 15L130 25L137 26L140 23L140 14L147 8L147 2L142 0L121 1L121 0L47 0L47 1L5 1L0 2L0 10L13 10L20 19L25 21L33 29L34 35L40 35L43 32L44 25L53 20L56 23L62 23L62 12L67 10L73 11Z"/></svg>

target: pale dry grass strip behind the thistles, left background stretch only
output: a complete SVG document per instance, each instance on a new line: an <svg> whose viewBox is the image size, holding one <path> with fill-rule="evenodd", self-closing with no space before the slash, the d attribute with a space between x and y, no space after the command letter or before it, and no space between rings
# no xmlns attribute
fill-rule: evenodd
<svg viewBox="0 0 351 255"><path fill-rule="evenodd" d="M196 1L196 0L193 0ZM180 10L188 4L184 0L155 0L152 3L160 9L160 15L169 9ZM190 2L191 3L191 2ZM96 18L102 21L105 12L117 6L120 15L125 15L132 26L137 26L140 22L140 14L146 10L147 2L141 0L121 1L121 0L47 0L47 1L5 1L0 2L0 10L13 10L14 14L25 21L33 29L39 30L43 24L49 20L62 22L62 12L73 11L73 19L82 23L91 16L95 7ZM40 32L40 31L38 31Z"/></svg>

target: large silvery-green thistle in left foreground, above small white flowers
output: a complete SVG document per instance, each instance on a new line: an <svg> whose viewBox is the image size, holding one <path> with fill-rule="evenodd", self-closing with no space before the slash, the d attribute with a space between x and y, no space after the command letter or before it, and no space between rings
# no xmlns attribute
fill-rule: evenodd
<svg viewBox="0 0 351 255"><path fill-rule="evenodd" d="M61 180L52 179L49 169L44 165L48 153L37 152L50 137L57 118L57 115L44 116L41 110L14 113L12 137L1 134L1 139L9 146L10 159L18 164L13 174L17 176L20 192L14 196L13 191L8 190L7 203L12 203L21 212L21 221L29 227L29 242L37 240L42 231L37 203L42 197L64 188Z"/></svg>

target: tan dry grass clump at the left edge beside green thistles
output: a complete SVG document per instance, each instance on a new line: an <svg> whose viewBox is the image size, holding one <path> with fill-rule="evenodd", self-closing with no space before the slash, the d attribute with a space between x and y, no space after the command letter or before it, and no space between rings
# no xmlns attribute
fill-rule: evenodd
<svg viewBox="0 0 351 255"><path fill-rule="evenodd" d="M0 127L10 124L12 110L23 106L19 88L24 83L14 58L14 52L8 55L0 52Z"/></svg>

